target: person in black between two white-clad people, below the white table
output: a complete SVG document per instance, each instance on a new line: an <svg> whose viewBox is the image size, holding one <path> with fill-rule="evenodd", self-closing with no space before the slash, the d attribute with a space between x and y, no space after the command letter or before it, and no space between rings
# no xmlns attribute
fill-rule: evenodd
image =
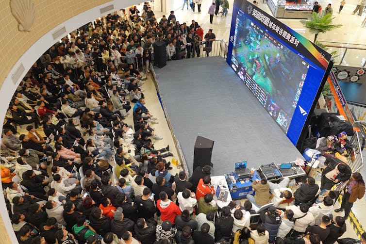
<svg viewBox="0 0 366 244"><path fill-rule="evenodd" d="M229 207L222 208L222 217L215 220L215 241L218 242L221 239L229 241L232 235L234 219L231 216Z"/></svg>

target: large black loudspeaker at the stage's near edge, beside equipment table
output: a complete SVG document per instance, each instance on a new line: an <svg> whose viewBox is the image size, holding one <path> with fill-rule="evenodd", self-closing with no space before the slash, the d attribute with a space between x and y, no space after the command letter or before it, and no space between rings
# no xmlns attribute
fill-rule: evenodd
<svg viewBox="0 0 366 244"><path fill-rule="evenodd" d="M195 154L193 157L193 170L196 169L198 166L213 166L211 163L213 147L214 141L204 138L202 136L197 136L195 144Z"/></svg>

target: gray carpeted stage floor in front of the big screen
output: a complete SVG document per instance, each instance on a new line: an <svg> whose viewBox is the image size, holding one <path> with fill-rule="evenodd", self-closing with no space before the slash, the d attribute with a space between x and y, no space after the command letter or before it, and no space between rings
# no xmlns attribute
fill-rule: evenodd
<svg viewBox="0 0 366 244"><path fill-rule="evenodd" d="M293 161L301 154L221 57L168 62L155 68L161 98L192 173L197 135L214 140L213 175Z"/></svg>

